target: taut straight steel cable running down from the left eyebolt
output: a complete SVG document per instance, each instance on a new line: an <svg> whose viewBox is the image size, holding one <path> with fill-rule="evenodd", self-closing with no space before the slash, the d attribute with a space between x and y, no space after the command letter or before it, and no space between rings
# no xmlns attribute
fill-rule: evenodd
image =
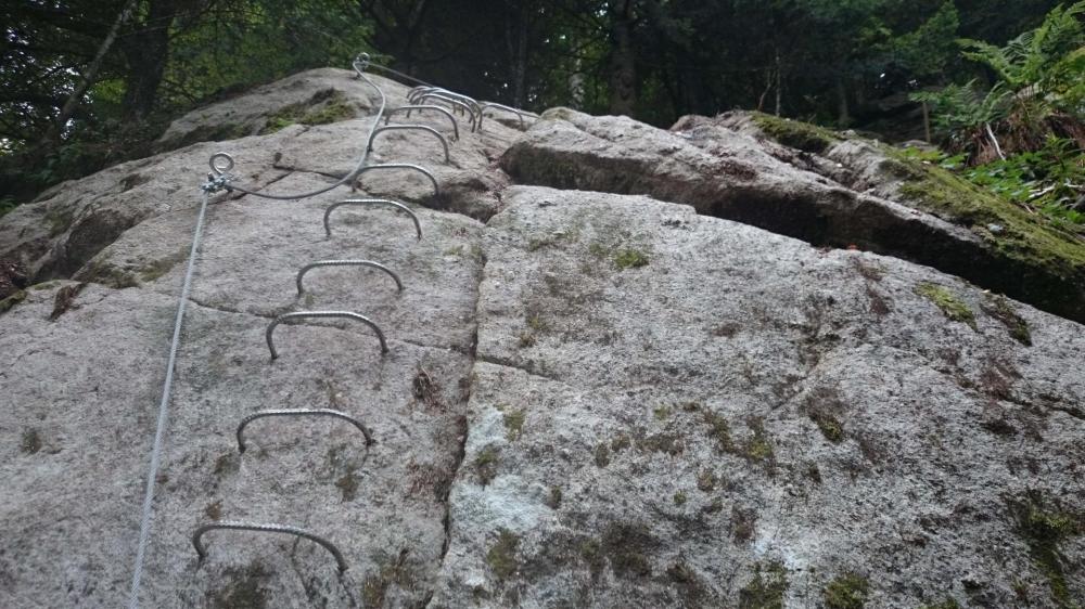
<svg viewBox="0 0 1085 609"><path fill-rule="evenodd" d="M136 549L136 567L132 571L132 586L128 596L129 609L139 608L139 584L143 576L143 555L146 553L146 542L151 534L152 503L154 502L154 483L158 477L158 464L162 457L162 443L166 435L166 422L169 418L169 394L174 387L174 366L177 362L177 350L181 344L181 323L184 321L184 309L189 302L189 291L192 288L192 274L196 267L196 251L203 237L204 217L207 213L207 202L210 194L218 190L214 182L203 187L203 202L200 204L200 215L196 218L195 232L192 235L192 248L189 250L189 267L184 272L184 283L181 286L181 298L177 303L177 319L174 322L174 340L169 345L169 361L166 364L166 383L162 388L162 402L158 403L158 427L154 432L154 444L151 449L151 467L146 475L146 490L143 493L143 516L139 526L139 545Z"/></svg>

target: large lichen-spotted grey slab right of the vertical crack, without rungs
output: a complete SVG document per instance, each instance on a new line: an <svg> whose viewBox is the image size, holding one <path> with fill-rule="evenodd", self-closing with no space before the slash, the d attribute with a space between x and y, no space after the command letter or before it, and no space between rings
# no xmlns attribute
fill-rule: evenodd
<svg viewBox="0 0 1085 609"><path fill-rule="evenodd" d="M1027 522L1085 513L1080 325L647 197L503 198L433 607L733 606L776 573L786 607L847 573L869 607L1058 606ZM1081 602L1085 540L1056 543Z"/></svg>

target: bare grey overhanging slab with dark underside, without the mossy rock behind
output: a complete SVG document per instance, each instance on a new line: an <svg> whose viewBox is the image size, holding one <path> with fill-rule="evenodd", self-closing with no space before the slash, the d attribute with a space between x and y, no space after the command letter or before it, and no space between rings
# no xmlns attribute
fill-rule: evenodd
<svg viewBox="0 0 1085 609"><path fill-rule="evenodd" d="M688 117L665 131L554 108L509 148L501 167L518 183L646 194L815 245L902 257L1085 320L1080 272L1021 258L898 197L878 196L897 189L857 192L814 166L795 167L771 154L780 146L725 124ZM856 178L858 170L846 173Z"/></svg>

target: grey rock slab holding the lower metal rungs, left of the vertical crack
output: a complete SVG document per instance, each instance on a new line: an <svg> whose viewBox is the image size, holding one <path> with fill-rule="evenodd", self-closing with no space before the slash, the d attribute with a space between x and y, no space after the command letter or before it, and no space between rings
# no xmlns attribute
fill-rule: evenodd
<svg viewBox="0 0 1085 609"><path fill-rule="evenodd" d="M299 173L282 186L319 181ZM220 196L210 206L158 476L143 606L253 598L276 606L416 605L432 588L445 542L445 496L465 432L481 263L471 251L480 225L419 209L429 241L417 243L409 219L392 210L343 211L329 241L320 218L330 200ZM0 503L0 520L9 523L0 605L115 607L127 598L184 269L174 256L187 245L194 216L188 208L151 218L95 259L100 269L136 276L140 287L91 283L49 322L58 291L75 284L43 284L0 315L0 436L12 456L2 467L16 481ZM395 296L384 276L332 269L306 277L311 304L295 298L301 261L361 255L404 264L397 268L404 295ZM145 276L138 264L162 273ZM369 298L369 307L358 306ZM391 352L382 357L360 324L317 321L281 325L280 358L270 362L265 315L310 307L371 313ZM376 443L367 451L358 430L340 420L259 419L247 428L250 450L239 455L241 418L283 407L345 411ZM231 531L207 534L208 558L200 566L189 536L216 519L308 529L335 543L350 569L340 578L332 557L309 542Z"/></svg>

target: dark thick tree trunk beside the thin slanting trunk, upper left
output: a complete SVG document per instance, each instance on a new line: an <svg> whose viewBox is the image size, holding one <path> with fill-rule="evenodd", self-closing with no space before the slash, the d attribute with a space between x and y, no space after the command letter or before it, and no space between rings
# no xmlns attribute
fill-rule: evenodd
<svg viewBox="0 0 1085 609"><path fill-rule="evenodd" d="M151 0L146 20L122 46L128 62L123 115L126 121L142 121L158 99L158 85L169 59L169 28L177 16L176 0Z"/></svg>

